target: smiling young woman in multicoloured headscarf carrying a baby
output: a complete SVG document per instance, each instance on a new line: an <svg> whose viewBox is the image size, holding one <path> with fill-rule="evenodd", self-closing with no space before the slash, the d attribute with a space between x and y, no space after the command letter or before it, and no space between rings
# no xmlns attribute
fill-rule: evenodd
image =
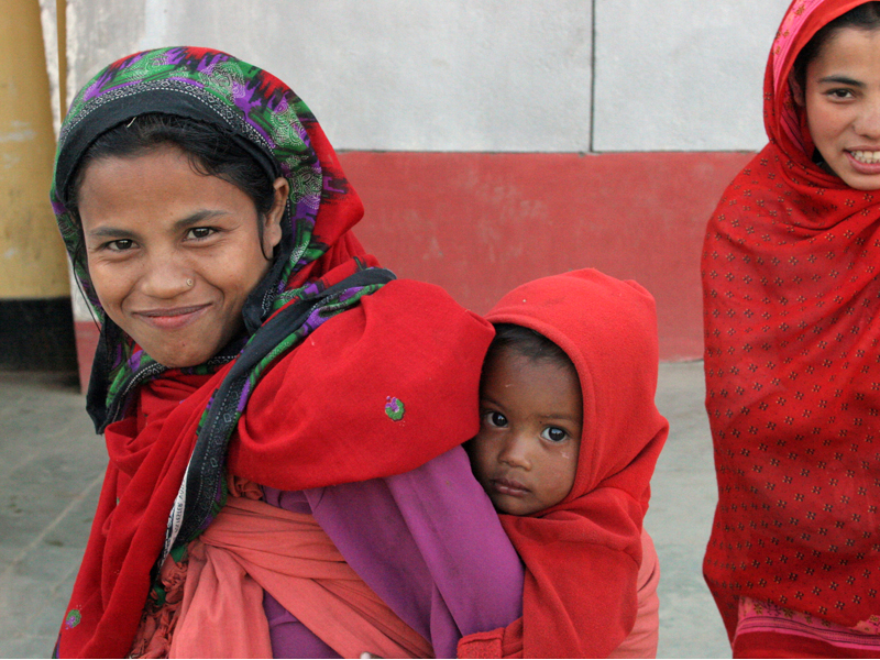
<svg viewBox="0 0 880 660"><path fill-rule="evenodd" d="M519 616L459 447L492 330L364 252L284 82L206 48L111 64L52 199L101 323L110 458L57 654L449 657Z"/></svg>

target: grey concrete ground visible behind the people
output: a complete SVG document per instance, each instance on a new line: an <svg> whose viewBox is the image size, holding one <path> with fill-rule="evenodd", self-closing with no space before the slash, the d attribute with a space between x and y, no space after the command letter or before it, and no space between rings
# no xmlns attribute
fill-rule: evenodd
<svg viewBox="0 0 880 660"><path fill-rule="evenodd" d="M657 400L671 425L646 521L662 571L659 657L729 658L700 569L716 501L702 363L662 364ZM0 372L0 657L45 658L107 458L69 377Z"/></svg>

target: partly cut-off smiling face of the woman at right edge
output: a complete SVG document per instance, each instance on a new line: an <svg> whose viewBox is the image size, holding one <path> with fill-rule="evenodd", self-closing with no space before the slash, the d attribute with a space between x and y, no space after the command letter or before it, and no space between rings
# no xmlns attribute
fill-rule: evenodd
<svg viewBox="0 0 880 660"><path fill-rule="evenodd" d="M834 174L857 190L880 189L880 32L834 33L807 65L795 100Z"/></svg>

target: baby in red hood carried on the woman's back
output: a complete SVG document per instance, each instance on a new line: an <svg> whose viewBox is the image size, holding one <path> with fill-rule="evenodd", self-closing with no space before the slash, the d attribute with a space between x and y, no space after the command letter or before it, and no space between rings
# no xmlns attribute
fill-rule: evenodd
<svg viewBox="0 0 880 660"><path fill-rule="evenodd" d="M653 298L586 270L490 312L474 474L526 564L522 618L459 657L649 658L659 569L642 532L668 425L653 403Z"/></svg>

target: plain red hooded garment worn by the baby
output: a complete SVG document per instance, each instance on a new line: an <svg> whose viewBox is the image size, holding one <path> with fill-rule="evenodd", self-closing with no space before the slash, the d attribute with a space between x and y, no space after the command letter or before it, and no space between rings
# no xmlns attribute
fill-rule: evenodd
<svg viewBox="0 0 880 660"><path fill-rule="evenodd" d="M584 424L571 493L535 516L502 515L526 563L522 618L466 637L461 657L601 658L636 620L641 522L667 438L657 411L657 317L635 282L586 270L531 282L488 314L571 358Z"/></svg>

